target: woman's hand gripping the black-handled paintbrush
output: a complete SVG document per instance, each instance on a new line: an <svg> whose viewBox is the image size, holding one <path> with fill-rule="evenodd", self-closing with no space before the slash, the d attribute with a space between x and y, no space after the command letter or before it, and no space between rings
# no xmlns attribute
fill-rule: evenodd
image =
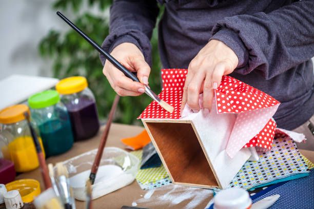
<svg viewBox="0 0 314 209"><path fill-rule="evenodd" d="M150 67L144 59L141 50L131 43L116 46L111 55L131 72L137 72L140 82L126 77L123 72L115 68L106 60L103 73L107 77L112 89L120 96L139 96L145 92L144 84L148 84Z"/></svg>

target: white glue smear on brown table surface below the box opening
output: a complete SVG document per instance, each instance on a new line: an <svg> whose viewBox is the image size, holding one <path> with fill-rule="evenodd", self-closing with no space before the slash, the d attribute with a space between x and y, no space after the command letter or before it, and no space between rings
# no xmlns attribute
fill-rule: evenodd
<svg viewBox="0 0 314 209"><path fill-rule="evenodd" d="M169 184L148 191L143 198L135 200L134 202L140 206L152 208L156 206L161 207L162 205L169 207L184 202L186 205L182 206L182 208L195 208L204 203L205 206L211 197L212 190L209 189Z"/></svg>

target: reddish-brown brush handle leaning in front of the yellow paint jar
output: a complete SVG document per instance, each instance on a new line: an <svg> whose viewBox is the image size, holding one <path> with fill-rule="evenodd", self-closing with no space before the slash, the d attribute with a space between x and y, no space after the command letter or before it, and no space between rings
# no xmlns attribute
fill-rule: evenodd
<svg viewBox="0 0 314 209"><path fill-rule="evenodd" d="M46 161L45 161L45 156L44 156L41 144L38 141L38 138L37 138L37 135L35 133L35 130L33 129L32 124L30 123L29 113L25 112L24 116L25 116L25 118L27 120L27 124L28 124L28 127L30 129L30 132L31 132L31 135L32 135L32 138L33 138L33 142L34 142L35 149L36 149L36 152L37 152L37 158L38 158L38 161L39 161L40 167L41 167L42 177L43 177L44 184L45 184L45 187L46 187L46 190L47 190L48 188L51 187L51 181L50 181L50 178L49 178L49 172L48 172L47 164L46 164Z"/></svg>

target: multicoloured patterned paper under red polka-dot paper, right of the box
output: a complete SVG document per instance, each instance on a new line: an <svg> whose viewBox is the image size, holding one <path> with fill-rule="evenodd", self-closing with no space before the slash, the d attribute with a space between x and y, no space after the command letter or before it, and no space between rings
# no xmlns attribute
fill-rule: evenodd
<svg viewBox="0 0 314 209"><path fill-rule="evenodd" d="M288 176L308 173L309 169L290 137L274 140L271 151L260 155L259 161L247 161L230 187L250 189Z"/></svg>

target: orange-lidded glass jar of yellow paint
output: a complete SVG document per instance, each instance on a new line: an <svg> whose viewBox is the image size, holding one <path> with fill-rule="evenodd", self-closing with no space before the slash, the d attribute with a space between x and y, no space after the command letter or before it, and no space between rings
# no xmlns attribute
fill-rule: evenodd
<svg viewBox="0 0 314 209"><path fill-rule="evenodd" d="M16 172L31 171L39 166L25 112L29 112L26 105L15 105L0 111L1 152L5 159L14 163ZM42 139L37 135L45 154Z"/></svg>

